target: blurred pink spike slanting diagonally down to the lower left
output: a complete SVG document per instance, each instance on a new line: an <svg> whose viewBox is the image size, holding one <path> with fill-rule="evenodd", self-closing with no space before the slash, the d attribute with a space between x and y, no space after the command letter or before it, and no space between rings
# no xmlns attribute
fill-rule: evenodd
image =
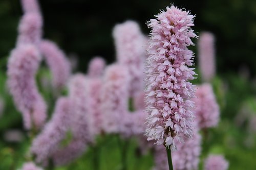
<svg viewBox="0 0 256 170"><path fill-rule="evenodd" d="M60 141L65 138L70 127L71 111L70 99L58 99L51 120L33 140L30 151L36 156L36 162L46 165L48 159L56 152Z"/></svg>

